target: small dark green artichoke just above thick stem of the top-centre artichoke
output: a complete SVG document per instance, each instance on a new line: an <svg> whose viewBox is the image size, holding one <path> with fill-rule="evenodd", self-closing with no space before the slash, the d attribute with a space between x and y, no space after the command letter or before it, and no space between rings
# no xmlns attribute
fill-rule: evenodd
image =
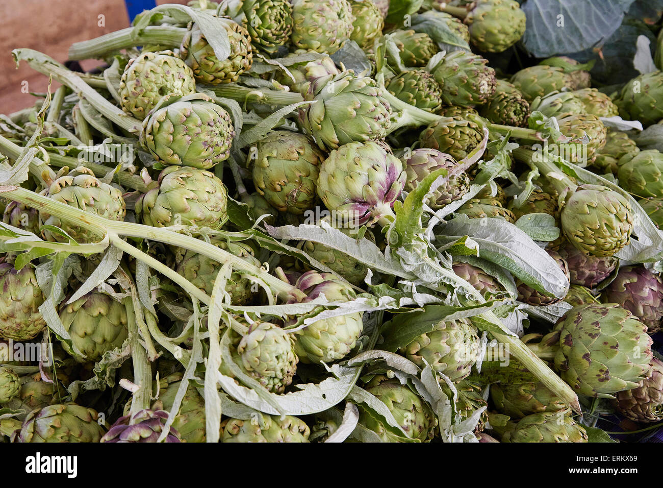
<svg viewBox="0 0 663 488"><path fill-rule="evenodd" d="M406 104L426 112L442 108L442 86L426 70L405 71L389 80L387 90Z"/></svg>

